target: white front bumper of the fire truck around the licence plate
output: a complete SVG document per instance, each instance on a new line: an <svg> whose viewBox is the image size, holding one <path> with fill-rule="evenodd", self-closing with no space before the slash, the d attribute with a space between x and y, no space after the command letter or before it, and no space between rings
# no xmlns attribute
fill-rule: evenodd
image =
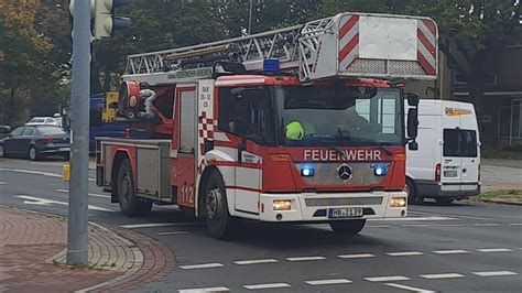
<svg viewBox="0 0 522 293"><path fill-rule="evenodd" d="M362 208L363 215L348 219L398 218L406 216L406 206L390 207L393 197L406 197L404 192L260 194L262 221L329 221L331 208ZM291 200L290 210L273 210L274 200Z"/></svg>

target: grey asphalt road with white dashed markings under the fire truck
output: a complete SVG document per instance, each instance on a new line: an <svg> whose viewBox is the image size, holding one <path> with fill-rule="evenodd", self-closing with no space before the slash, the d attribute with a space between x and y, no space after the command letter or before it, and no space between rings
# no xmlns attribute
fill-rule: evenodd
<svg viewBox="0 0 522 293"><path fill-rule="evenodd" d="M0 160L0 205L66 215L61 163ZM94 180L94 173L90 174ZM176 269L135 292L521 292L521 207L461 202L410 207L402 220L373 220L360 236L326 225L243 223L233 241L172 207L128 218L89 183L90 220L167 245Z"/></svg>

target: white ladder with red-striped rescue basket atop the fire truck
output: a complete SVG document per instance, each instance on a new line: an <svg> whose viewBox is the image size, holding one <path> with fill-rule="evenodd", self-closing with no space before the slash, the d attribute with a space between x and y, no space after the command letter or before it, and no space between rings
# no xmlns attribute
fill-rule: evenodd
<svg viewBox="0 0 522 293"><path fill-rule="evenodd" d="M426 18L339 13L303 25L187 47L129 55L124 79L168 84L210 77L218 61L261 72L265 58L302 82L330 77L428 79L438 31Z"/></svg>

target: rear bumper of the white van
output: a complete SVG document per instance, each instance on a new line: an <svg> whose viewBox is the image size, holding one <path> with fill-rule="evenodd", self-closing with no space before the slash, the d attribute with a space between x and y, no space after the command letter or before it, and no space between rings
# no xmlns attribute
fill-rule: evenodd
<svg viewBox="0 0 522 293"><path fill-rule="evenodd" d="M421 197L452 197L461 199L480 194L480 182L441 183L436 181L414 181L417 195Z"/></svg>

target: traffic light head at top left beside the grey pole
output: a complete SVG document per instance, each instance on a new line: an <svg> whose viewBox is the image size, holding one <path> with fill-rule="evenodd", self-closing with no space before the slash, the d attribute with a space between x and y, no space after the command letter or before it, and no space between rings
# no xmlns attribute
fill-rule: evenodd
<svg viewBox="0 0 522 293"><path fill-rule="evenodd" d="M95 39L111 36L115 30L129 28L129 18L115 17L115 8L132 3L132 0L96 0L95 3Z"/></svg>

